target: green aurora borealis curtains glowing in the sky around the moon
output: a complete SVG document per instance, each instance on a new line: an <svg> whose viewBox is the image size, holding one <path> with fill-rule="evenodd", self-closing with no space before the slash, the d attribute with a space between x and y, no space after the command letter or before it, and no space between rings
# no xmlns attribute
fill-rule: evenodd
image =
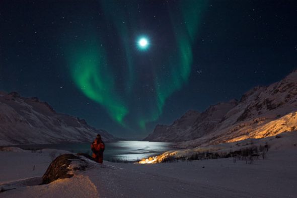
<svg viewBox="0 0 297 198"><path fill-rule="evenodd" d="M77 88L102 105L116 123L134 129L137 123L145 129L146 123L158 120L168 97L188 81L192 47L205 5L180 1L169 6L164 28L170 27L172 35L163 36L166 41L158 43L158 33L145 32L149 28L142 28L137 20L137 4L126 10L120 9L121 4L103 1L107 28L95 33L95 28L89 27L87 42L69 44L70 74ZM109 31L118 36L108 35ZM150 46L143 51L137 48L141 36L150 39ZM158 49L165 42L173 43L174 48Z"/></svg>

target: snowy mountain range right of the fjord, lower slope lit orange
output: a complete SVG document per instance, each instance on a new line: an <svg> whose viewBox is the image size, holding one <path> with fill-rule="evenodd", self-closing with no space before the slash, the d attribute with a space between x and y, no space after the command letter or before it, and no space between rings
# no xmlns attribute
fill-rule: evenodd
<svg viewBox="0 0 297 198"><path fill-rule="evenodd" d="M181 147L196 147L275 136L297 128L296 112L297 70L280 82L249 90L240 101L210 106L183 128L176 121L170 126L157 125L144 140L182 142Z"/></svg>

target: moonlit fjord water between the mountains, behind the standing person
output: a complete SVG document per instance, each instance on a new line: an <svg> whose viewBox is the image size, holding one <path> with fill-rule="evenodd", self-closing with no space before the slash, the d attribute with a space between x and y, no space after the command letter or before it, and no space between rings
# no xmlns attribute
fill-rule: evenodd
<svg viewBox="0 0 297 198"><path fill-rule="evenodd" d="M22 149L59 149L73 153L88 153L92 155L91 143L65 143L52 145L21 145ZM105 143L104 160L136 161L142 158L156 156L171 149L170 143L118 141Z"/></svg>

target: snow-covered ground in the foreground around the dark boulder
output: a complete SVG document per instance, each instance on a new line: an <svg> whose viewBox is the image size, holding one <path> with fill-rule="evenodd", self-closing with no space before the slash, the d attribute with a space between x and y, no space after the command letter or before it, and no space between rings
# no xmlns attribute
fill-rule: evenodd
<svg viewBox="0 0 297 198"><path fill-rule="evenodd" d="M88 161L86 171L37 185L53 152L63 153L0 152L0 189L16 187L0 197L297 197L297 147L271 150L253 164L232 158L144 165Z"/></svg>

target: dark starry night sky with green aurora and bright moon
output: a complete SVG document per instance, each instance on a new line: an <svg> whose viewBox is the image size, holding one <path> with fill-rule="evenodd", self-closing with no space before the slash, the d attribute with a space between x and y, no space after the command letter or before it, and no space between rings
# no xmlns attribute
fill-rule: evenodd
<svg viewBox="0 0 297 198"><path fill-rule="evenodd" d="M296 35L294 1L2 0L0 90L140 138L282 79Z"/></svg>

